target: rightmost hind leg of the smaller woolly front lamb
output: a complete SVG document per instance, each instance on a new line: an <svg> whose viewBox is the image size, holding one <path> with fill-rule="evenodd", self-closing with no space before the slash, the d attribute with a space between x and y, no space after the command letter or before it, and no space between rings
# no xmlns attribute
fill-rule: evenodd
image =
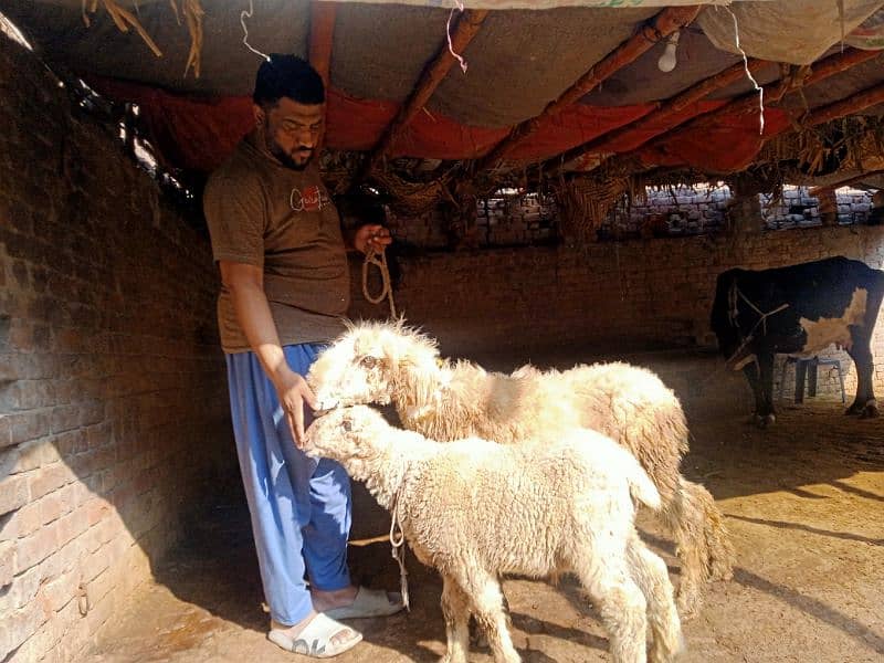
<svg viewBox="0 0 884 663"><path fill-rule="evenodd" d="M632 577L648 601L648 621L653 640L650 660L670 663L684 650L684 640L666 562L649 550L638 534L633 534L627 552Z"/></svg>

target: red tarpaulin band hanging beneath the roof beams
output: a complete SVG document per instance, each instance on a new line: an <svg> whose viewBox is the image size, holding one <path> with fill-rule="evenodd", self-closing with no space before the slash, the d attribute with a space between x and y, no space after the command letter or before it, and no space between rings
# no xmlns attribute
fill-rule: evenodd
<svg viewBox="0 0 884 663"><path fill-rule="evenodd" d="M150 138L170 165L210 171L232 151L254 126L248 96L198 101L130 83L90 78L90 84L110 98L139 104ZM604 108L577 104L541 123L533 139L515 149L514 160L538 160L591 140L651 110L651 105ZM392 102L356 99L330 90L327 110L327 147L369 150L396 116ZM488 129L455 123L439 114L421 112L392 144L390 156L432 159L474 159L503 140L507 129Z"/></svg>

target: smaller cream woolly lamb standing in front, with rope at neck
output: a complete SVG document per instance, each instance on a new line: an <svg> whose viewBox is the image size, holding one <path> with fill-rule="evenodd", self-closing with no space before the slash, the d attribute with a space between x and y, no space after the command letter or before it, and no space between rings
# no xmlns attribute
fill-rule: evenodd
<svg viewBox="0 0 884 663"><path fill-rule="evenodd" d="M446 663L464 663L474 613L495 661L519 661L498 576L573 572L596 601L620 663L673 661L683 649L665 562L634 526L633 499L660 507L641 465L610 439L573 429L555 443L439 443L393 428L367 406L338 408L307 430L305 451L338 461L392 512L423 564L442 577Z"/></svg>

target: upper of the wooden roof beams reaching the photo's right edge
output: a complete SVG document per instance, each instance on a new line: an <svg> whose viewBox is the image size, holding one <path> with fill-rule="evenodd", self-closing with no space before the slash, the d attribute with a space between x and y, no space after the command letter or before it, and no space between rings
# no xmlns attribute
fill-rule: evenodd
<svg viewBox="0 0 884 663"><path fill-rule="evenodd" d="M768 83L767 85L762 86L765 91L765 103L772 104L780 101L787 94L794 92L798 88L808 87L810 85L814 85L817 83L821 83L827 78L834 76L835 74L840 74L845 72L863 62L878 57L881 55L881 51L862 51L860 49L851 49L845 51L844 53L838 53L835 55L830 55L825 60L820 61L817 65L812 67L811 73L803 80L803 81L790 81L790 80L779 80L772 83ZM659 137L656 140L663 139L671 139L671 138L678 138L681 136L685 136L686 134L695 130L695 123L697 120L703 122L711 122L717 118L722 118L728 115L738 115L743 113L757 113L758 112L758 93L750 92L743 96L737 97L736 99L725 104L724 106L711 112L706 113L697 118L692 118L686 124L681 125L675 131L666 133L664 136ZM642 144L645 145L645 144ZM617 168L618 165L628 166L631 160L632 156L641 148L641 146L635 147L627 152L621 152L615 157L612 157L608 160L608 164Z"/></svg>

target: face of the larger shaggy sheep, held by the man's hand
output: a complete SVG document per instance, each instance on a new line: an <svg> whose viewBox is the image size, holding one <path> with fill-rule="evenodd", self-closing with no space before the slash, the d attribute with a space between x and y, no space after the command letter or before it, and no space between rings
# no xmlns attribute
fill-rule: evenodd
<svg viewBox="0 0 884 663"><path fill-rule="evenodd" d="M318 410L390 402L396 366L383 336L375 328L355 328L319 355L307 375Z"/></svg>

